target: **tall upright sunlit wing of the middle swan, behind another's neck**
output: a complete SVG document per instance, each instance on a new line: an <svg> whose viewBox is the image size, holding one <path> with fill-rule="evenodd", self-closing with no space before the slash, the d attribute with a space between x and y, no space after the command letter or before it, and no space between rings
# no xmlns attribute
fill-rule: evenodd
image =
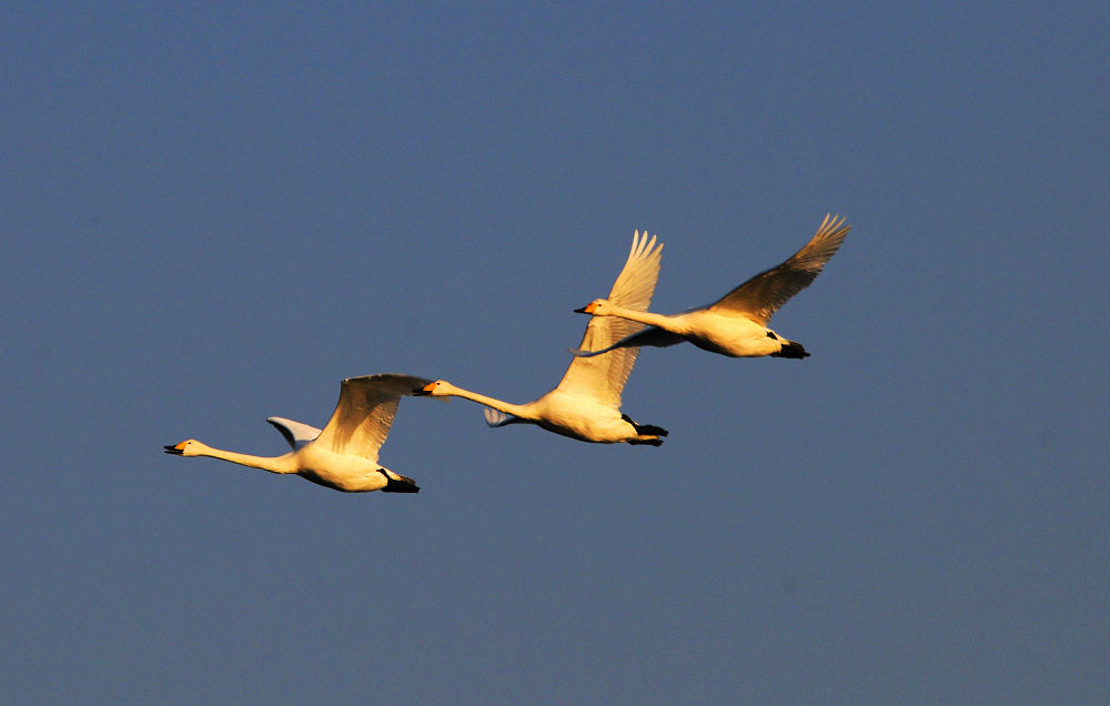
<svg viewBox="0 0 1110 706"><path fill-rule="evenodd" d="M640 235L637 231L632 239L628 260L613 283L607 299L618 306L646 311L659 279L662 256L663 243L656 244L654 235L648 240L646 232ZM591 316L578 349L606 349L643 327L642 323L619 316ZM638 347L620 347L605 355L576 356L572 359L557 389L588 395L613 409L620 409L620 392L638 354Z"/></svg>

